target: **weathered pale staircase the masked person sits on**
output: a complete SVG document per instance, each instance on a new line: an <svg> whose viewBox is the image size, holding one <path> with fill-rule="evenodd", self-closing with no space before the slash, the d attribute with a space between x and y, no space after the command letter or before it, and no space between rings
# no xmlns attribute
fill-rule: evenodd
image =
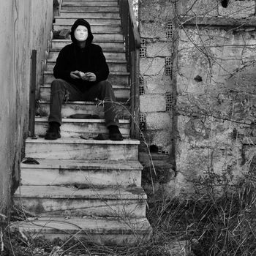
<svg viewBox="0 0 256 256"><path fill-rule="evenodd" d="M37 136L26 140L26 157L37 159L39 165L21 164L22 185L13 197L16 205L34 217L14 223L12 228L48 239L75 236L101 244L137 244L150 238L151 226L146 219L146 194L140 187L139 141L129 138L129 73L117 0L63 0L53 29L70 29L77 18L91 23L94 42L105 53L125 140L91 138L108 133L102 106L94 102L67 102L62 110L61 139L40 138L48 127L56 57L71 42L53 39L39 91ZM99 118L68 118L74 113L97 114Z"/></svg>

